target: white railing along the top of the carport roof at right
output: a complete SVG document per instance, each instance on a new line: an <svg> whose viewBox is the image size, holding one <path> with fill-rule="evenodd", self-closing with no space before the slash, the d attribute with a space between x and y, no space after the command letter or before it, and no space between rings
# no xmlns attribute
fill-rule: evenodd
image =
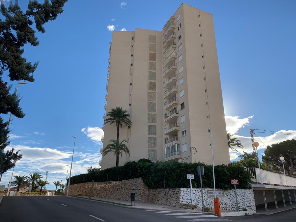
<svg viewBox="0 0 296 222"><path fill-rule="evenodd" d="M252 181L260 184L274 184L281 186L296 186L296 178L284 174L273 173L258 168L245 168L252 176Z"/></svg>

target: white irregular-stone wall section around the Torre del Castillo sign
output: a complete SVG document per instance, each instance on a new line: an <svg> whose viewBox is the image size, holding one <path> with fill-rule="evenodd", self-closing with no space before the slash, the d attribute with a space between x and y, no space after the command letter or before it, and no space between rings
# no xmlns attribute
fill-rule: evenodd
<svg viewBox="0 0 296 222"><path fill-rule="evenodd" d="M203 197L205 207L214 207L214 198L207 196L207 190L213 189L203 189ZM202 197L201 190L197 188L192 189L193 192L193 205L197 205L198 208L202 208ZM234 189L224 191L225 197L220 198L220 205L222 210L236 210L237 203L235 200ZM243 208L256 213L254 193L252 189L237 189L237 200L239 205L239 210ZM180 189L180 203L181 204L191 204L190 189L181 188Z"/></svg>

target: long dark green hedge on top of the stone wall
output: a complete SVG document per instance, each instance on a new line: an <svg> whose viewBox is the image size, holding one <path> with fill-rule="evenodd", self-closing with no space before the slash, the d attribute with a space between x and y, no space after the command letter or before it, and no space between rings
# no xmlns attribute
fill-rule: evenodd
<svg viewBox="0 0 296 222"><path fill-rule="evenodd" d="M103 181L120 181L141 177L150 189L156 188L189 188L189 179L186 174L194 174L192 187L200 187L200 177L197 176L197 166L204 165L205 175L202 176L204 188L213 188L212 165L202 163L179 163L178 161L166 161L148 163L146 161L128 162L120 167L107 168L105 170L85 173L71 177L70 184L81 184ZM216 187L219 189L232 189L231 179L238 179L237 188L250 189L251 177L241 166L217 165L215 166Z"/></svg>

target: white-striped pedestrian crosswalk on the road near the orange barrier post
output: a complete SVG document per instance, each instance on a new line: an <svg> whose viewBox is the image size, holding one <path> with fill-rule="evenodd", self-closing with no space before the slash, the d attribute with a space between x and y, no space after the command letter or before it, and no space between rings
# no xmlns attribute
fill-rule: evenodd
<svg viewBox="0 0 296 222"><path fill-rule="evenodd" d="M184 222L186 221L191 221L191 222L207 222L207 221L231 221L228 219L224 219L221 217L218 217L216 215L210 214L210 213L193 213L193 212L176 212L176 211L156 211L156 210L147 210L151 211L151 213L158 213L158 214L163 214L163 215L168 215L168 216L173 216L178 219L183 219ZM180 221L183 221L180 220Z"/></svg>

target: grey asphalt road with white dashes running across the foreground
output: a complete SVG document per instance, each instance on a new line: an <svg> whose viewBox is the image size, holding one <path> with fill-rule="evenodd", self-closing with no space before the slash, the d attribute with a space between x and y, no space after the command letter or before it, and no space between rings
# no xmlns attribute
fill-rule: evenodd
<svg viewBox="0 0 296 222"><path fill-rule="evenodd" d="M286 212L286 213L285 213ZM295 221L289 210L274 215L250 215L219 218L212 214L130 209L100 202L70 197L4 197L0 205L0 222L203 222ZM278 216L279 215L279 216ZM289 215L289 216L288 216Z"/></svg>

